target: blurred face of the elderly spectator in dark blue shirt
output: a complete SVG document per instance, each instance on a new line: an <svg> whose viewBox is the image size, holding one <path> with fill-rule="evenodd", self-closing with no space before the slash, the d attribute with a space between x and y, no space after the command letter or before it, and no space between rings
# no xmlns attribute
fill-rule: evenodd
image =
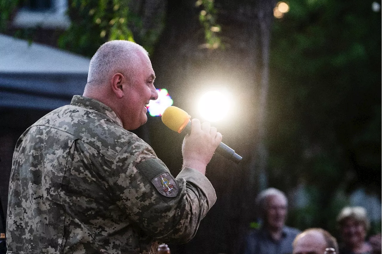
<svg viewBox="0 0 382 254"><path fill-rule="evenodd" d="M267 227L282 228L286 217L286 200L280 195L269 196L266 199L265 220Z"/></svg>

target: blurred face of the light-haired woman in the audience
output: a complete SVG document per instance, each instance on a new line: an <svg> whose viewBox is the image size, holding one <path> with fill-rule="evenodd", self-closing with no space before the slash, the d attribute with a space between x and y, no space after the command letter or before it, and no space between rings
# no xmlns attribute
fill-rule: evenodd
<svg viewBox="0 0 382 254"><path fill-rule="evenodd" d="M341 235L344 243L353 247L363 243L366 237L366 229L363 223L349 218L341 226Z"/></svg>

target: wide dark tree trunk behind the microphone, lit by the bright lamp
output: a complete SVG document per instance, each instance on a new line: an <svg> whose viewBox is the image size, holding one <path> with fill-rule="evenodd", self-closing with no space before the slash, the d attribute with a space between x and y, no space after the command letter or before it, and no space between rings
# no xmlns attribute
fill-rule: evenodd
<svg viewBox="0 0 382 254"><path fill-rule="evenodd" d="M214 156L207 167L207 177L217 192L217 203L202 221L193 240L170 247L176 254L237 253L249 222L254 219L253 201L261 185L259 176L266 175L264 118L274 2L215 1L225 50L200 47L205 43L204 30L198 19L201 10L195 7L195 2L167 2L165 29L152 58L157 74L155 84L157 88L169 90L175 106L198 117L194 107L196 95L207 88L207 81L228 82L230 89L239 95L238 116L232 124L237 128L219 126L219 123L215 126L223 133L224 142L243 156L243 161L236 166ZM174 169L179 169L181 164L174 158L181 158L180 150L168 154L161 152L159 146L155 148L158 143L161 147L180 147L181 138L174 141L170 135L173 134L163 140L152 140L152 144L176 175L179 171L174 172ZM261 172L263 174L259 174ZM262 182L262 186L265 185L266 180Z"/></svg>

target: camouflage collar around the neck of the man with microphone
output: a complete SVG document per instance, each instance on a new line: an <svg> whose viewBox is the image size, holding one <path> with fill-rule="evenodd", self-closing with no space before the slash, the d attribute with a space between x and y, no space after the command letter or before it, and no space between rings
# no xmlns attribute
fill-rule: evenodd
<svg viewBox="0 0 382 254"><path fill-rule="evenodd" d="M115 112L110 107L106 106L102 102L99 102L99 101L94 100L92 98L87 98L87 97L84 97L81 95L74 95L70 104L97 110L100 113L107 115L116 124L123 127L122 121L121 121L121 119L119 119L117 114L115 114Z"/></svg>

